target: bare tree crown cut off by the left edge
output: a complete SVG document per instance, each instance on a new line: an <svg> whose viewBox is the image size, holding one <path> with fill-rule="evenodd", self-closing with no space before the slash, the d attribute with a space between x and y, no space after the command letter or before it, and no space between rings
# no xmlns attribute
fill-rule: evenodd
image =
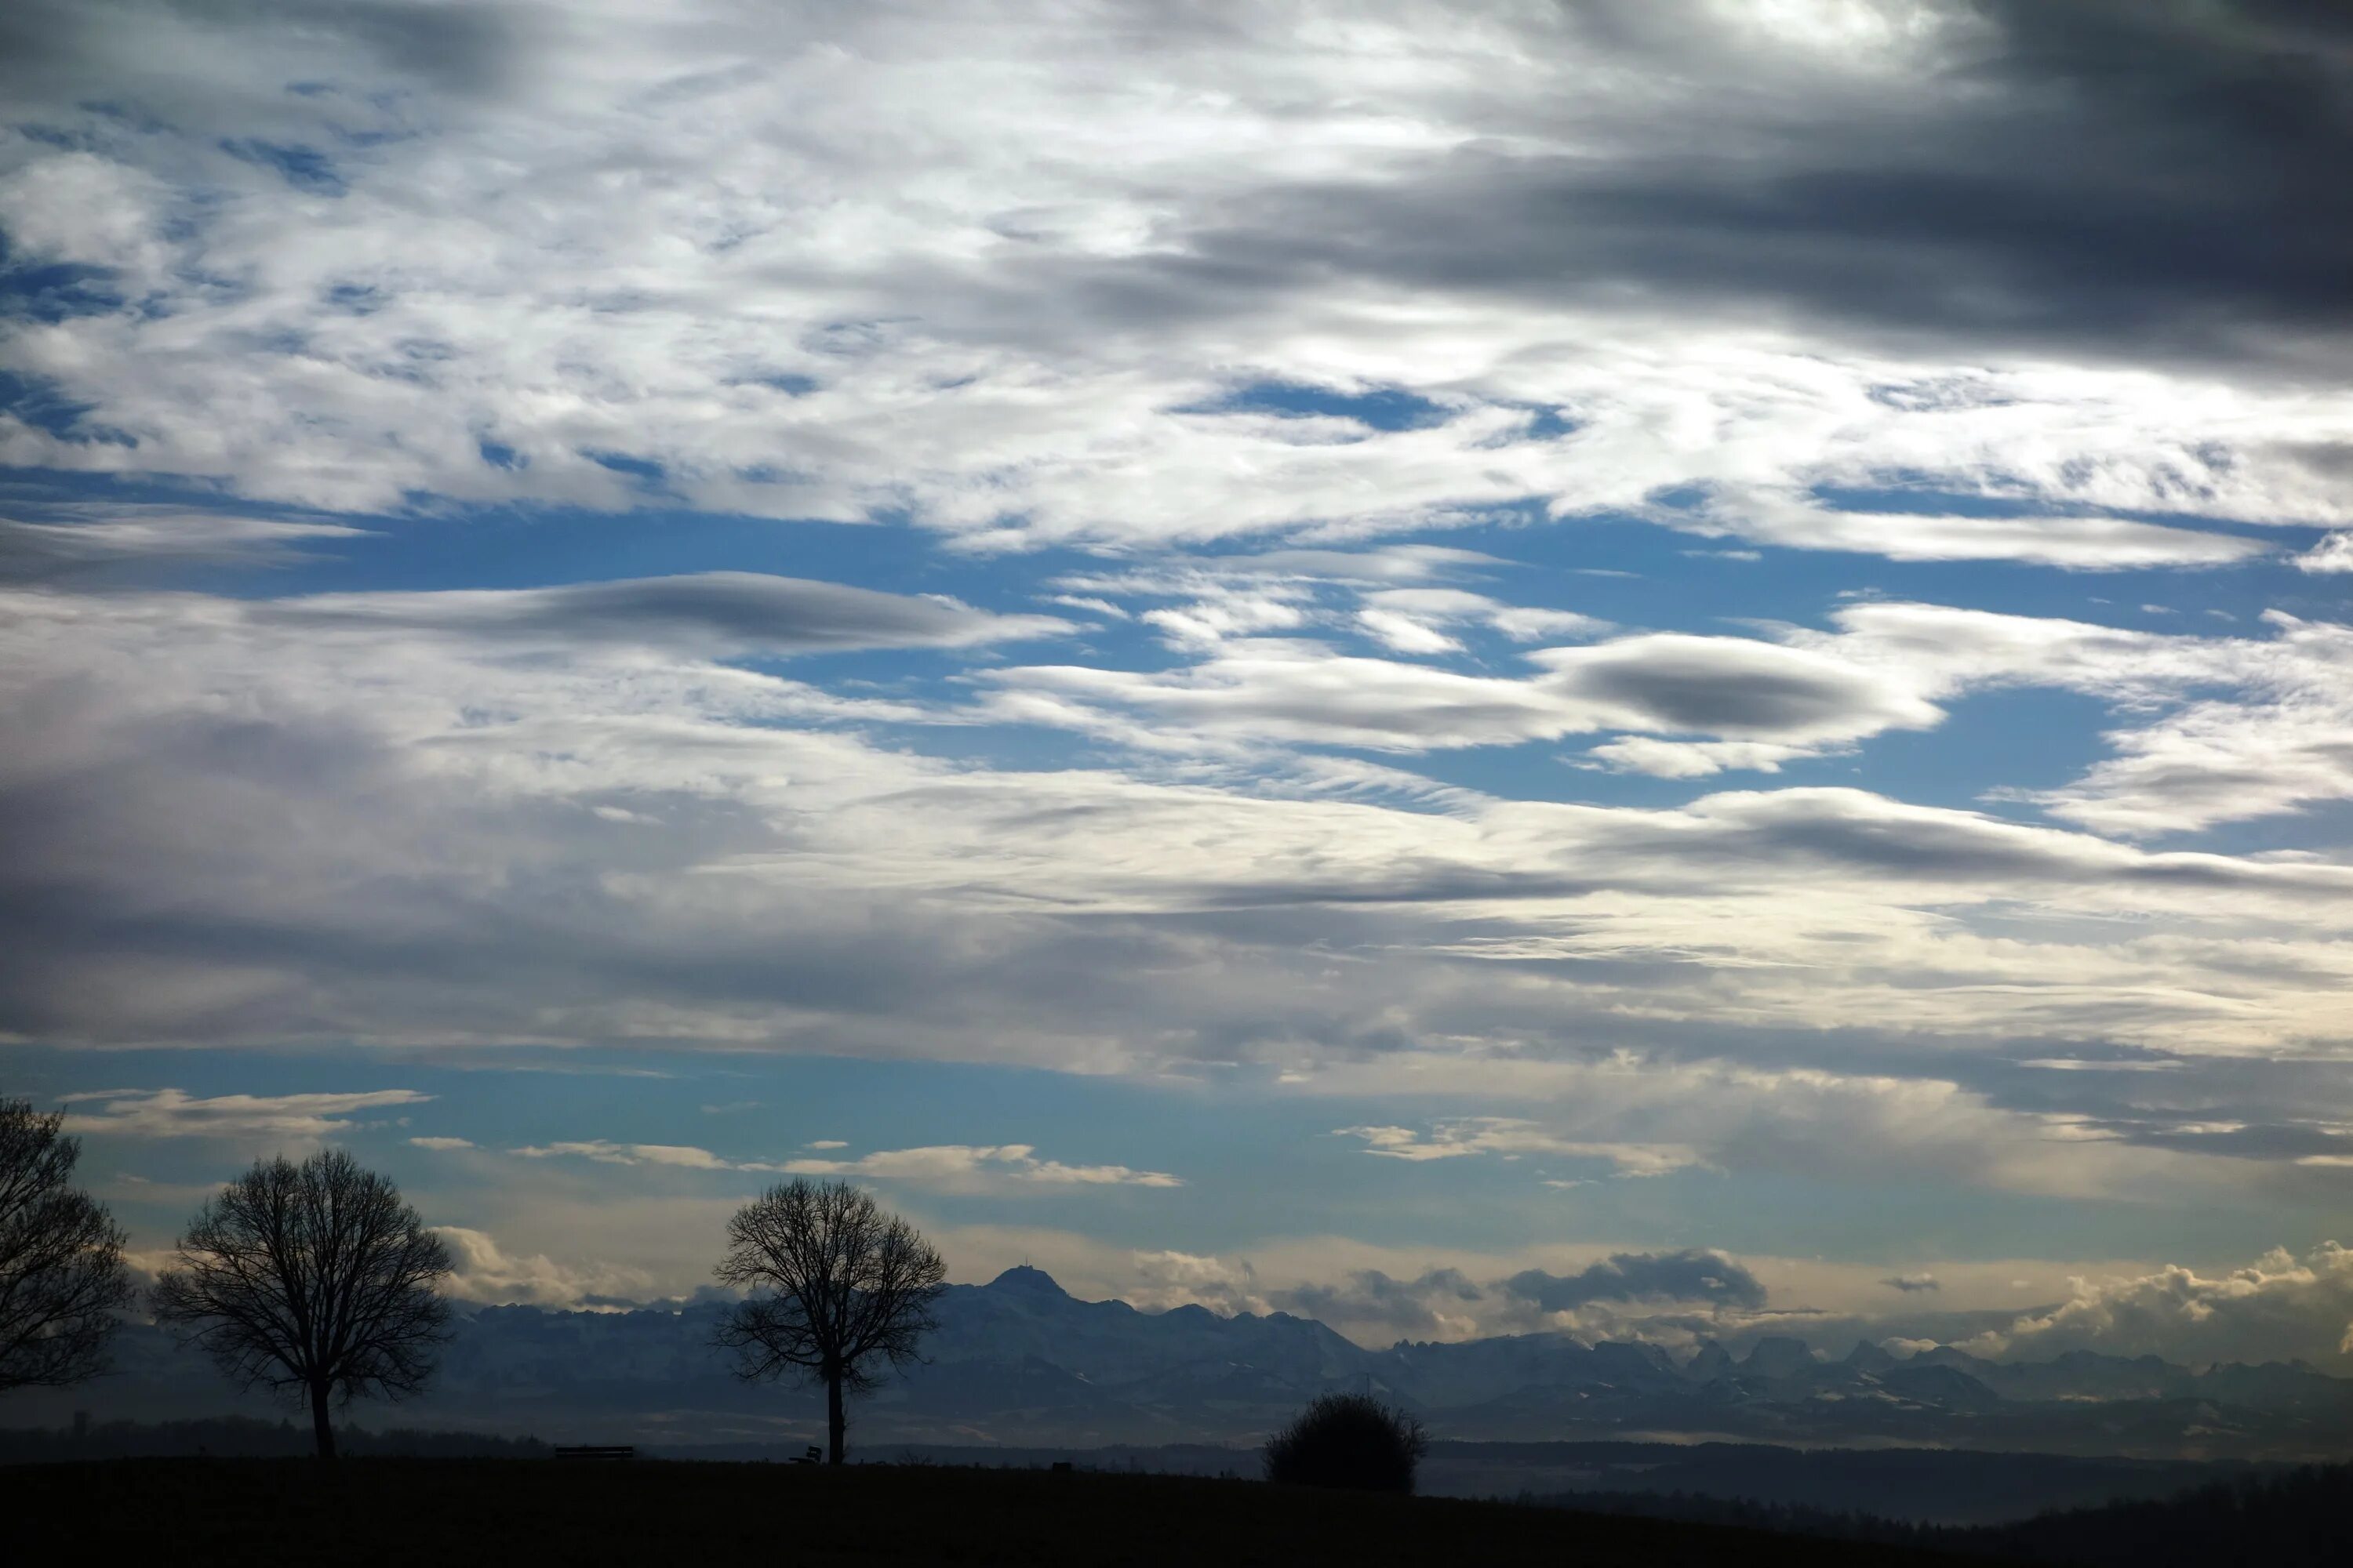
<svg viewBox="0 0 2353 1568"><path fill-rule="evenodd" d="M104 1371L115 1307L132 1300L122 1232L68 1185L82 1140L61 1138L64 1121L0 1100L0 1394Z"/></svg>

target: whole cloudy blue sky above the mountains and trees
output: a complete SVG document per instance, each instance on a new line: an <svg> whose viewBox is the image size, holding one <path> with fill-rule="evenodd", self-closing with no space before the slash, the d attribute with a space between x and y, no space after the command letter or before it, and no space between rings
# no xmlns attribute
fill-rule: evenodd
<svg viewBox="0 0 2353 1568"><path fill-rule="evenodd" d="M468 1300L2353 1373L2337 0L0 14L0 1088Z"/></svg>

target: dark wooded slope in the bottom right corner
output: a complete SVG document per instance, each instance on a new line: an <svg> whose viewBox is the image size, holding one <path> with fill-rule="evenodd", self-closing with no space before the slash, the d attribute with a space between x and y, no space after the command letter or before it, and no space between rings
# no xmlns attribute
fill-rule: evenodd
<svg viewBox="0 0 2353 1568"><path fill-rule="evenodd" d="M1701 1493L1558 1493L1522 1502L2085 1568L2151 1563L2334 1568L2353 1559L2353 1465L2240 1476L2172 1497L2064 1509L2002 1526L1925 1526Z"/></svg>

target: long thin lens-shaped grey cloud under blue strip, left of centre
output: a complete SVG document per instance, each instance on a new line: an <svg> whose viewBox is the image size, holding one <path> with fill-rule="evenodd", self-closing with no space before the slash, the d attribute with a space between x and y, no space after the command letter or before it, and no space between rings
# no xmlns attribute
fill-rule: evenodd
<svg viewBox="0 0 2353 1568"><path fill-rule="evenodd" d="M452 592L353 592L278 599L268 618L292 625L454 632L565 644L652 642L694 649L814 654L828 649L960 649L1045 637L1054 616L995 616L845 583L699 571L689 576Z"/></svg>

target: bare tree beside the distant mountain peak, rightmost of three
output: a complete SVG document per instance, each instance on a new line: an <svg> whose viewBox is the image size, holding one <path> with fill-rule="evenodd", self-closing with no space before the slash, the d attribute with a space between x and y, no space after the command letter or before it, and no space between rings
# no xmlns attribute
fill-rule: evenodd
<svg viewBox="0 0 2353 1568"><path fill-rule="evenodd" d="M746 1382L802 1373L826 1385L826 1462L842 1462L842 1396L882 1382L885 1366L915 1361L939 1324L948 1265L932 1244L847 1182L784 1182L727 1220L722 1284L753 1295L713 1342L736 1352Z"/></svg>

